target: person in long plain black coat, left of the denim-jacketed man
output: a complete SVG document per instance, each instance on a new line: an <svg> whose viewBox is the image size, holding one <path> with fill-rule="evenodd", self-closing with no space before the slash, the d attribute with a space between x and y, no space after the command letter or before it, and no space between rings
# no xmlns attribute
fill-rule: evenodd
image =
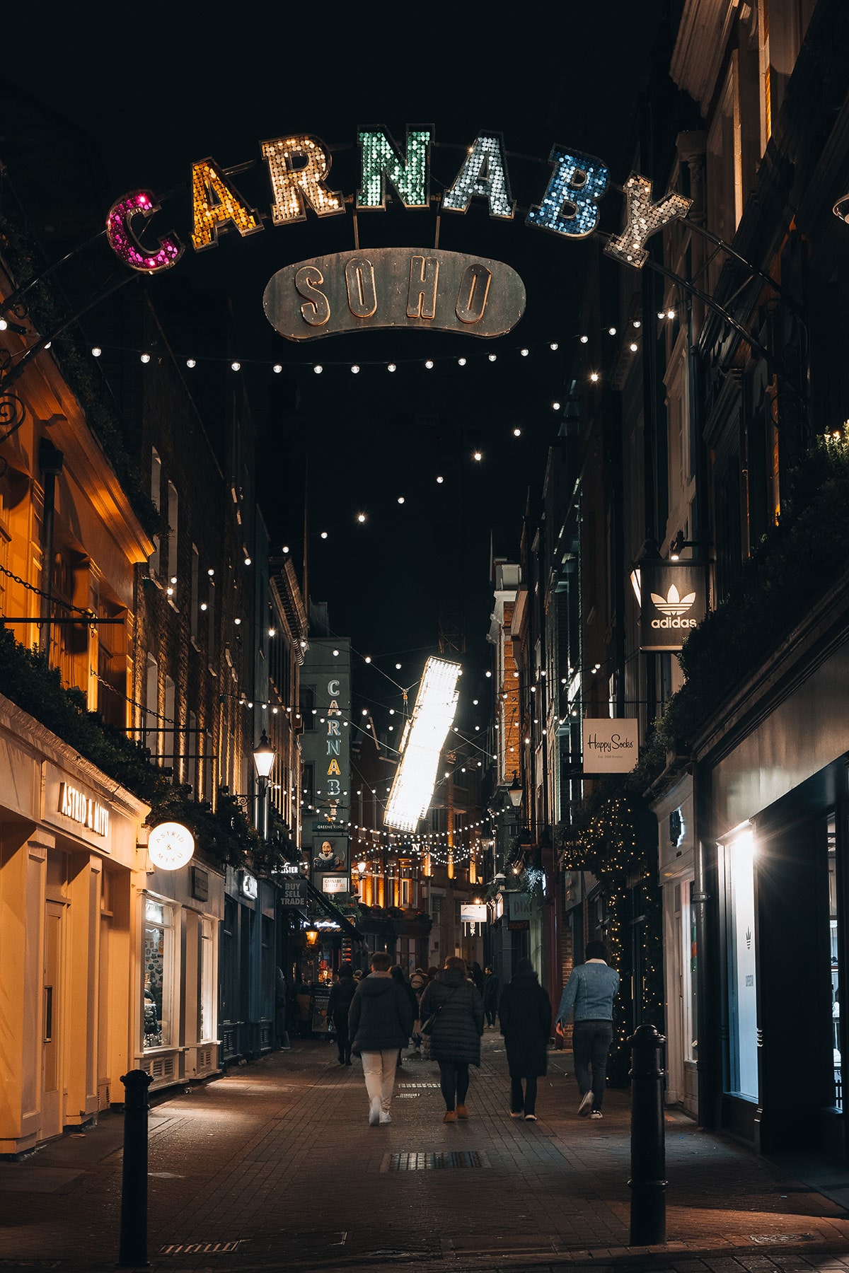
<svg viewBox="0 0 849 1273"><path fill-rule="evenodd" d="M549 1068L551 999L530 959L521 959L513 979L502 992L498 1006L510 1072L510 1118L536 1123L537 1078ZM524 1080L524 1092L522 1092Z"/></svg>

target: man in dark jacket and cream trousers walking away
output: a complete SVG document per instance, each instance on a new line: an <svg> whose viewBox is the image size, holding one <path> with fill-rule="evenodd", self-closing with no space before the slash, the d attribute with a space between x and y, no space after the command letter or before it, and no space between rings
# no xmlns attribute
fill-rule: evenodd
<svg viewBox="0 0 849 1273"><path fill-rule="evenodd" d="M412 1008L402 985L392 980L386 951L372 955L372 971L356 988L347 1017L353 1050L363 1058L369 1125L391 1123L395 1063L412 1030Z"/></svg>

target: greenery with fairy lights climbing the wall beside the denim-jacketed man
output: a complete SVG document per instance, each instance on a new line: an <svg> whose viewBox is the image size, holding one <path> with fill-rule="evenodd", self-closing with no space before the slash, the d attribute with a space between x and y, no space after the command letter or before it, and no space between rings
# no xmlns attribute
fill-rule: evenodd
<svg viewBox="0 0 849 1273"><path fill-rule="evenodd" d="M566 871L591 871L607 900L605 942L621 978L614 1001L610 1082L628 1082L628 1039L642 1022L663 1031L663 943L657 822L642 796L612 796L574 825L563 845ZM635 1003L631 1003L631 985Z"/></svg>

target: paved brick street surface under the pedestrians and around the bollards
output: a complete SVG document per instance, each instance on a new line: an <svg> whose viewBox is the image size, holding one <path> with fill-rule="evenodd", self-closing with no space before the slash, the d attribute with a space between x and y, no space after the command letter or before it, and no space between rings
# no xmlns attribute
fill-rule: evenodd
<svg viewBox="0 0 849 1273"><path fill-rule="evenodd" d="M409 1059L392 1123L369 1127L360 1066L340 1067L331 1044L313 1041L172 1096L150 1115L150 1264L157 1273L849 1270L845 1164L820 1165L817 1190L816 1165L798 1179L793 1165L676 1113L666 1125L668 1241L629 1248L629 1096L608 1092L601 1122L579 1118L570 1068L569 1053L552 1054L537 1123L509 1118L495 1031L472 1072L467 1123L442 1122L437 1066ZM0 1270L115 1268L121 1136L112 1115L0 1162Z"/></svg>

